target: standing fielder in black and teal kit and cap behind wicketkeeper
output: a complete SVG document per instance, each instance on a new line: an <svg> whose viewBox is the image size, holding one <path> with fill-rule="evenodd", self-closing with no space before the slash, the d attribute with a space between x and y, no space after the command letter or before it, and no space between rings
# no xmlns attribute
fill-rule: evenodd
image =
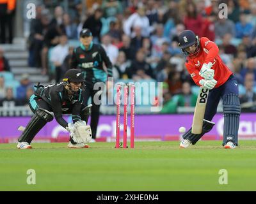
<svg viewBox="0 0 256 204"><path fill-rule="evenodd" d="M93 36L89 29L83 29L80 33L81 45L74 49L70 68L81 69L86 83L84 96L84 105L88 103L88 99L92 97L92 116L90 126L92 128L92 138L95 140L97 126L100 115L100 104L95 103L93 98L95 94L99 94L97 99L101 101L101 93L103 90L95 90L93 86L97 82L108 82L108 77L112 77L112 63L104 48L93 43ZM103 68L103 62L106 70ZM107 87L111 85L108 84Z"/></svg>

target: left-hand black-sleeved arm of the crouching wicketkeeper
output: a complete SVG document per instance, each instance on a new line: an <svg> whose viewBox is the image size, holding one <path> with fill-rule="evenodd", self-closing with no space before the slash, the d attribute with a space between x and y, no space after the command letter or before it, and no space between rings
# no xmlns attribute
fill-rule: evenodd
<svg viewBox="0 0 256 204"><path fill-rule="evenodd" d="M60 101L60 96L58 92L52 92L50 94L51 96L51 105L52 105L52 110L54 113L54 117L58 124L60 124L63 128L68 127L68 123L65 119L62 117L62 110L61 110L61 101Z"/></svg>

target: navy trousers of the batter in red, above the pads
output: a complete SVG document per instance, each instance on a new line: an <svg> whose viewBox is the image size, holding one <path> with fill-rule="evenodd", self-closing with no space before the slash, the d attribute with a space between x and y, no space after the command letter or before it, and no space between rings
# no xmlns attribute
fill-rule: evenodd
<svg viewBox="0 0 256 204"><path fill-rule="evenodd" d="M234 75L231 75L225 84L209 92L204 119L211 121L217 112L220 99L223 99L226 94L230 93L238 95L238 83Z"/></svg>

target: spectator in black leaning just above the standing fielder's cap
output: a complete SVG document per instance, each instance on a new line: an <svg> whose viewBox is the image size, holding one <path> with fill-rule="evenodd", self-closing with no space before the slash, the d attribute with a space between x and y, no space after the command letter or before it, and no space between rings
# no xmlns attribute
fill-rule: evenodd
<svg viewBox="0 0 256 204"><path fill-rule="evenodd" d="M93 41L98 43L100 41L100 31L102 29L102 22L100 18L103 15L101 8L97 8L93 15L88 17L83 24L83 29L88 28L92 32Z"/></svg>

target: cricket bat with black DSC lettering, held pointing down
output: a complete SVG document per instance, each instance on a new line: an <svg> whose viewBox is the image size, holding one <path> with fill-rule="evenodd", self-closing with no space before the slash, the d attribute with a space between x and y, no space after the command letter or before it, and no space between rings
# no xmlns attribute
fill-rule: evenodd
<svg viewBox="0 0 256 204"><path fill-rule="evenodd" d="M192 123L192 131L193 134L202 133L203 122L204 122L204 113L205 107L207 104L207 98L209 95L209 89L205 87L200 87L199 94L196 100L195 112Z"/></svg>

